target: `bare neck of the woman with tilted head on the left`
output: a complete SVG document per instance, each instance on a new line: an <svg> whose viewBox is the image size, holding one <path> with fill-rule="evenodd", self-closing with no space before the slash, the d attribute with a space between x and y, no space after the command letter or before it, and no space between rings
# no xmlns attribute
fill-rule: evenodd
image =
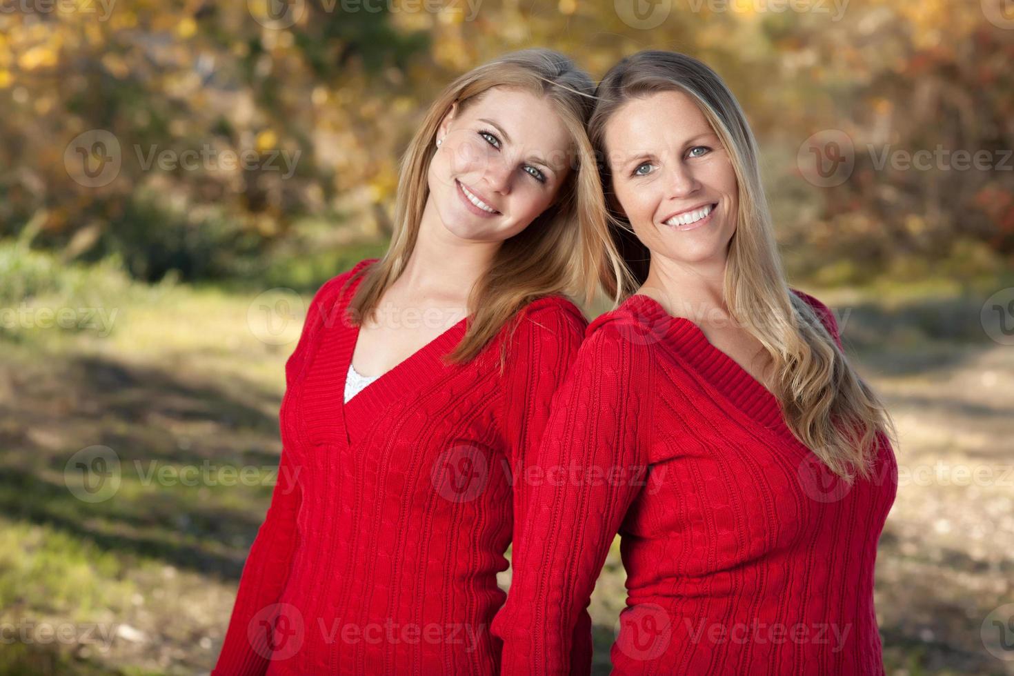
<svg viewBox="0 0 1014 676"><path fill-rule="evenodd" d="M453 298L464 306L472 287L489 270L499 248L499 241L462 239L452 233L432 200L427 200L416 244L395 284L404 284L413 295Z"/></svg>

